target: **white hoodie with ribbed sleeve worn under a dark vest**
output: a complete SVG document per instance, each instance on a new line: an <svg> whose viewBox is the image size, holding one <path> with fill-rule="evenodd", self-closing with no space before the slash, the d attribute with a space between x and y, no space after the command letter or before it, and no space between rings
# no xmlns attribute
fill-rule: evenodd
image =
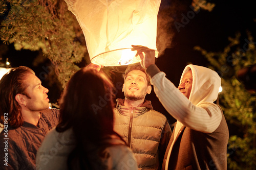
<svg viewBox="0 0 256 170"><path fill-rule="evenodd" d="M217 72L202 66L187 65L182 73L192 71L193 83L189 99L165 78L164 72L152 77L154 91L164 108L184 126L203 133L214 132L220 125L222 112L214 104L221 78Z"/></svg>

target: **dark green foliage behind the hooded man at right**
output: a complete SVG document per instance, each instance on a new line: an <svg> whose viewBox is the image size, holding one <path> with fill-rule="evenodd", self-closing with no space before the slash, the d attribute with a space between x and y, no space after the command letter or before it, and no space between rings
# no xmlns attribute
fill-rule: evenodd
<svg viewBox="0 0 256 170"><path fill-rule="evenodd" d="M220 105L229 125L228 169L254 169L256 165L256 96L246 91L244 84L236 78L238 70L256 63L256 49L253 37L241 43L241 34L229 38L230 44L223 52L207 52L196 46L222 77L223 91ZM232 129L230 129L232 128Z"/></svg>

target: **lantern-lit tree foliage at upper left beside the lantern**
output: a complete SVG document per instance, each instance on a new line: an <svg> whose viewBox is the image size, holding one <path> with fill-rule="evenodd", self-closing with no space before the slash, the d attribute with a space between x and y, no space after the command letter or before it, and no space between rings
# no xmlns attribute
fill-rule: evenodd
<svg viewBox="0 0 256 170"><path fill-rule="evenodd" d="M14 43L16 50L40 50L46 55L65 86L87 52L83 34L64 1L0 1L2 15L0 37Z"/></svg>

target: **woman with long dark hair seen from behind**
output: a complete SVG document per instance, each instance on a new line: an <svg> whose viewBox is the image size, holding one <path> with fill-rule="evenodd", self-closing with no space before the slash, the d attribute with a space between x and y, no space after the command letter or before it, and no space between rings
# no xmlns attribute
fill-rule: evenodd
<svg viewBox="0 0 256 170"><path fill-rule="evenodd" d="M132 151L113 130L113 84L88 67L71 78L59 124L36 156L36 169L137 169Z"/></svg>

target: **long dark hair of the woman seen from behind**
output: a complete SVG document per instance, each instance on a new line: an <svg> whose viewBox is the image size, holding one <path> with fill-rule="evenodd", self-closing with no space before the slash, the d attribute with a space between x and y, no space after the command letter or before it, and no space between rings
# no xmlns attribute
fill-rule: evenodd
<svg viewBox="0 0 256 170"><path fill-rule="evenodd" d="M93 169L94 165L89 157L96 153L91 153L88 146L102 148L102 141L110 135L118 136L122 140L113 130L112 90L113 83L109 78L103 72L90 68L80 69L68 82L61 98L60 119L56 131L73 129L77 144L68 157L69 169ZM97 166L104 169L100 161Z"/></svg>

